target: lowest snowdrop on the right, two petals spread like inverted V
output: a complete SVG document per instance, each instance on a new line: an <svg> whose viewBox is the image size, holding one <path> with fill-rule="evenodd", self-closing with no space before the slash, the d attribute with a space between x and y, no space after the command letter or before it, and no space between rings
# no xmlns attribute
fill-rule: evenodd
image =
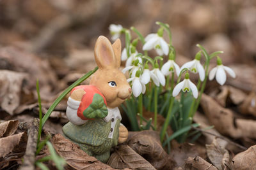
<svg viewBox="0 0 256 170"><path fill-rule="evenodd" d="M182 90L183 92L189 92L190 89L192 91L193 96L196 99L198 97L198 90L196 88L196 85L194 85L194 83L192 83L189 80L189 74L186 73L185 74L185 79L174 87L173 92L172 92L172 96L173 97L177 96L179 94L180 90Z"/></svg>

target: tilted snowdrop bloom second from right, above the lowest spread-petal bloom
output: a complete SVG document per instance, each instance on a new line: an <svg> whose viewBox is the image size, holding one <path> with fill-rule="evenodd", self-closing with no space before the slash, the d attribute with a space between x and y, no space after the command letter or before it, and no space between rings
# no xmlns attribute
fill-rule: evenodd
<svg viewBox="0 0 256 170"><path fill-rule="evenodd" d="M204 71L204 67L202 66L202 64L200 63L200 59L201 59L201 52L196 53L196 57L194 60L186 62L181 68L180 70L187 68L189 69L189 71L191 71L192 73L199 73L199 77L201 81L204 81L205 78L205 71Z"/></svg>

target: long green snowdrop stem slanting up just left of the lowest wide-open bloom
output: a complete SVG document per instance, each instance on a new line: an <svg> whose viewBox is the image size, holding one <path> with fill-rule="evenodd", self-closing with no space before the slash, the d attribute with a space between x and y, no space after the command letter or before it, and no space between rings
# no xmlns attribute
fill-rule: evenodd
<svg viewBox="0 0 256 170"><path fill-rule="evenodd" d="M172 94L172 91L173 91L173 85L174 85L174 72L172 72L171 90L170 90L171 94ZM160 139L161 139L162 143L163 143L163 139L164 139L164 134L165 134L166 129L167 129L168 125L170 124L170 120L172 118L172 106L173 106L174 99L175 99L175 97L171 97L171 102L170 102L170 105L169 105L169 108L168 108L167 117L165 118L163 129L162 129L161 134L160 134Z"/></svg>

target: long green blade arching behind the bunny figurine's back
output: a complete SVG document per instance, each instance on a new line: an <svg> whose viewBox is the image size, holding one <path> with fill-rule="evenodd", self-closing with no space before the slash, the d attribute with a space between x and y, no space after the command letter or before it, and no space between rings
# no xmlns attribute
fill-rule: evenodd
<svg viewBox="0 0 256 170"><path fill-rule="evenodd" d="M49 116L51 115L52 111L54 110L54 108L56 108L56 106L60 103L60 101L67 96L67 94L77 85L79 85L80 83L82 83L84 80L86 80L88 77L92 76L93 73L95 73L95 71L97 71L98 67L95 67L95 69L93 69L92 71L89 71L88 73L86 73L84 76L82 76L81 78L79 78L77 81L75 81L74 83L72 83L72 85L70 85L55 101L54 103L52 103L51 107L49 108L49 110L47 110L47 112L45 113L44 117L42 118L42 127L44 126L46 120L49 118Z"/></svg>

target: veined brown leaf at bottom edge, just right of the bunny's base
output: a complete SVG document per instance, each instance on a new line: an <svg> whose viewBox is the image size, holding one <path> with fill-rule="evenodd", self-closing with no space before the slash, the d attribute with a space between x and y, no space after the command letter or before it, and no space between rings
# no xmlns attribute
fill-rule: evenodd
<svg viewBox="0 0 256 170"><path fill-rule="evenodd" d="M116 169L156 169L128 145L118 145L118 149L109 157L107 164Z"/></svg>

